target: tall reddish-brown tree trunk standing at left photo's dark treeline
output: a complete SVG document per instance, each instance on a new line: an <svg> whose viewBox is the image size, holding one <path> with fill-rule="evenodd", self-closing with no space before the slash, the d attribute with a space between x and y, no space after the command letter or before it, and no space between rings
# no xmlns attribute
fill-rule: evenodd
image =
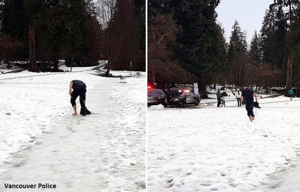
<svg viewBox="0 0 300 192"><path fill-rule="evenodd" d="M37 59L36 59L35 30L34 30L33 25L29 25L28 40L29 40L28 71L36 72L37 71Z"/></svg>

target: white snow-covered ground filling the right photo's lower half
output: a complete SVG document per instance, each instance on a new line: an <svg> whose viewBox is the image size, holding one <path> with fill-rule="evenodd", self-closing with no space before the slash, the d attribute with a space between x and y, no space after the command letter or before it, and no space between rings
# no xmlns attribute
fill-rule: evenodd
<svg viewBox="0 0 300 192"><path fill-rule="evenodd" d="M226 99L147 109L149 192L300 191L300 99L259 99L253 122Z"/></svg>

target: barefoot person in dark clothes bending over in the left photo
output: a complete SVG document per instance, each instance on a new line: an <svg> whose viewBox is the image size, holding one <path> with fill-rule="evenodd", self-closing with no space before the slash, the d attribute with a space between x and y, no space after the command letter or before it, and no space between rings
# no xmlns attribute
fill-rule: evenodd
<svg viewBox="0 0 300 192"><path fill-rule="evenodd" d="M73 89L73 92L72 92ZM79 102L81 106L80 114L86 116L86 114L91 114L85 106L85 93L86 93L86 85L81 80L72 80L70 82L69 94L71 95L71 104L74 109L73 116L77 115L76 109L76 99L79 96Z"/></svg>

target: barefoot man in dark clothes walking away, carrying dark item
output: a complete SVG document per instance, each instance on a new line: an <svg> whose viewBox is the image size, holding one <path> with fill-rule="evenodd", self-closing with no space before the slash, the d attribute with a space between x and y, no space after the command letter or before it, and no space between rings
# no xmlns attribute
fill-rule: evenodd
<svg viewBox="0 0 300 192"><path fill-rule="evenodd" d="M255 118L254 113L253 113L253 96L255 97L255 101L257 103L257 96L254 93L254 91L252 91L251 89L248 88L248 85L244 85L244 91L242 93L242 97L241 100L243 101L245 99L246 101L246 110L247 110L247 115L250 119L250 121L252 122Z"/></svg>

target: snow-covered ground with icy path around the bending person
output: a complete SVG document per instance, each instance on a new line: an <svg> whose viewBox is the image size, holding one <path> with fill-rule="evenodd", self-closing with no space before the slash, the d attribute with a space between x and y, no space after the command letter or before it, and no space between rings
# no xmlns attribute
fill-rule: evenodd
<svg viewBox="0 0 300 192"><path fill-rule="evenodd" d="M0 191L146 190L145 75L121 84L89 68L74 71L0 75ZM86 84L92 115L72 116L74 79ZM79 98L76 103L79 112ZM56 188L39 189L38 183Z"/></svg>

